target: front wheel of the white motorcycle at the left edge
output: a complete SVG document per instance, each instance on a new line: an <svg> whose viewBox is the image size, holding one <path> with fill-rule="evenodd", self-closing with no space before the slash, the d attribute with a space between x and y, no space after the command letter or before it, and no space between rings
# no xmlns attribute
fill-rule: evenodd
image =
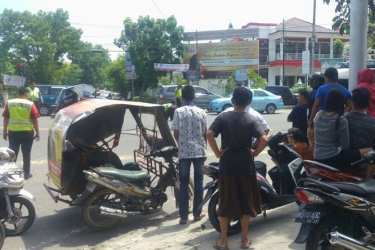
<svg viewBox="0 0 375 250"><path fill-rule="evenodd" d="M7 236L19 235L34 222L35 208L31 201L22 196L10 196L13 216L2 218L1 223ZM25 209L22 209L25 208Z"/></svg>

